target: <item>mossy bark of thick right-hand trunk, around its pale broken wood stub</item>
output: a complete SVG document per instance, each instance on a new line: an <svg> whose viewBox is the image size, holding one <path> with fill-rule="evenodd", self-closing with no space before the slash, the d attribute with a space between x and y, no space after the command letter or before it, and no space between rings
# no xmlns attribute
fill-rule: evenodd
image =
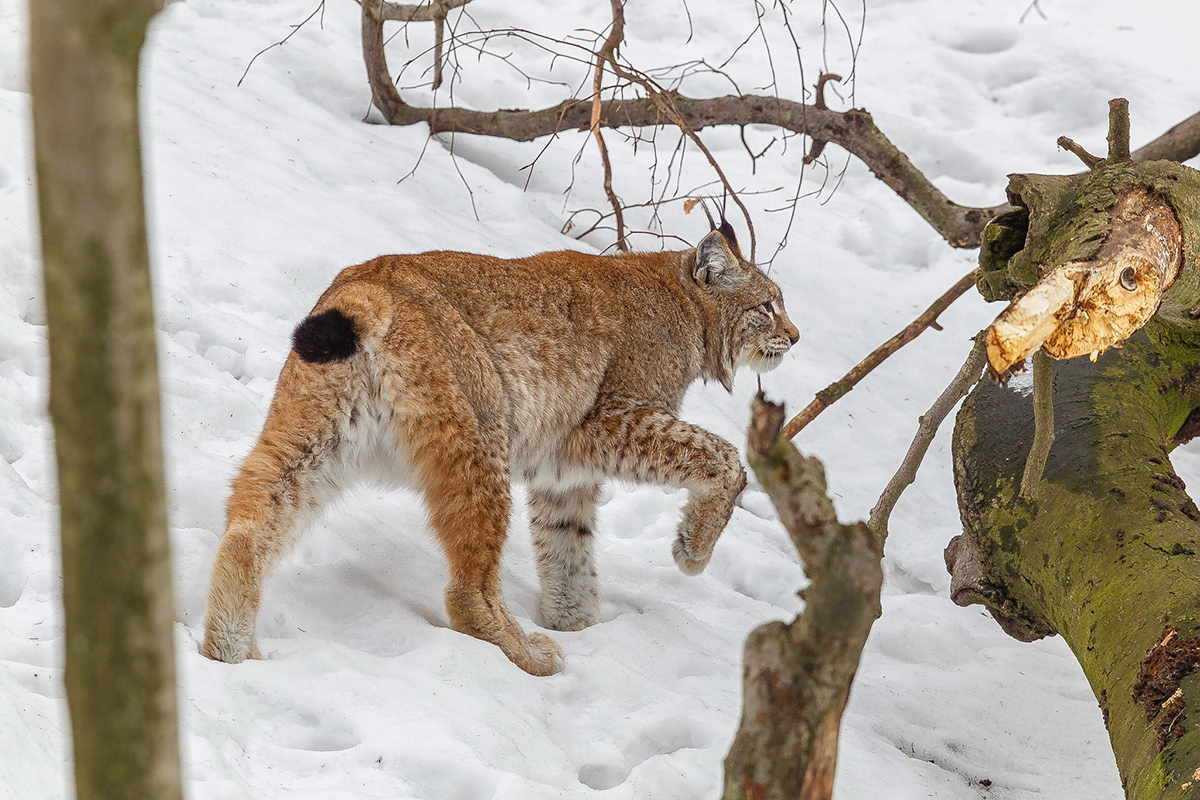
<svg viewBox="0 0 1200 800"><path fill-rule="evenodd" d="M1031 398L990 380L967 397L953 445L964 533L946 560L959 604L984 604L1022 640L1062 634L1103 709L1128 798L1195 798L1200 511L1169 453L1200 419L1200 174L1148 162L1014 176L1021 211L989 225L980 290L1013 296L1087 260L1117 199L1138 188L1178 216L1178 279L1123 347L1054 362L1054 444L1032 497L1020 491Z"/></svg>

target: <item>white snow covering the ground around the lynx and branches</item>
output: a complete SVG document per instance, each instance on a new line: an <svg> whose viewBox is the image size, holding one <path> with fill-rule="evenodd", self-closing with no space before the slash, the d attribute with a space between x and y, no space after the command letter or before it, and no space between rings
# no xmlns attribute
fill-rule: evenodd
<svg viewBox="0 0 1200 800"><path fill-rule="evenodd" d="M769 91L762 86L773 66L779 91L798 98L779 11L766 10L764 37L751 36L756 5L629 0L624 53L646 68L720 64L749 36L728 66L737 86ZM853 102L953 199L978 205L1003 199L1006 173L1079 169L1055 148L1061 134L1103 152L1110 97L1130 101L1134 146L1200 108L1195 0L1034 6L870 0L863 25L863 7L846 1L840 13L852 40L862 25L852 65L834 7L823 34L821 0L791 4L805 80L822 67L850 76L853 66ZM586 134L553 143L530 178L521 167L545 142L458 137L451 152L449 140L428 142L420 127L364 121L359 10L348 0L332 0L264 53L239 86L251 58L314 7L178 0L154 23L144 59L187 795L716 796L740 708L742 643L756 625L800 609L796 553L754 486L697 578L680 575L670 553L682 495L613 487L600 512L602 620L553 633L566 656L553 678L530 678L494 646L448 628L445 566L419 499L366 487L310 530L268 584L263 661L230 667L197 651L229 477L262 425L292 326L338 269L386 252L518 255L611 243L602 231L583 242L559 233L572 211L605 207ZM461 30L515 25L564 36L602 28L606 8L479 0ZM70 794L70 751L24 14L22 0L0 0L0 798L48 800ZM414 25L407 43L400 35L389 46L394 72L418 58L403 85L422 80L427 58L419 54L430 40L428 26ZM463 53L456 102L536 107L587 82L584 67L568 60L547 72L547 58L529 44L491 47L563 83L527 85L508 62ZM733 90L704 73L684 89ZM432 100L422 88L406 97ZM446 91L437 100L448 102ZM848 101L830 94L835 107ZM776 136L745 132L755 152ZM644 199L655 149L644 143L635 154L620 134L607 138L617 191ZM794 192L803 146L776 142L751 166L738 131L704 138L736 186L774 190L746 196L760 258L770 255L788 215L767 210ZM664 163L676 140L659 134ZM828 174L808 168L810 194L772 267L804 338L763 385L793 411L974 259L946 246L859 162L847 167L840 149L830 146L827 160ZM691 152L678 191L709 180ZM648 213L635 212L632 223L647 227ZM679 203L662 210L662 224L688 241L706 231ZM636 243L660 246L649 236ZM798 438L824 461L845 519L866 516L918 415L997 311L964 297L942 315L944 331L922 336ZM697 386L684 415L740 444L754 389L749 375L732 396ZM1016 643L980 609L947 599L942 548L959 530L948 441L949 426L892 521L883 616L846 711L836 794L1118 798L1100 711L1066 645ZM1176 464L1200 480L1195 452ZM504 581L514 613L533 628L536 579L522 511Z"/></svg>

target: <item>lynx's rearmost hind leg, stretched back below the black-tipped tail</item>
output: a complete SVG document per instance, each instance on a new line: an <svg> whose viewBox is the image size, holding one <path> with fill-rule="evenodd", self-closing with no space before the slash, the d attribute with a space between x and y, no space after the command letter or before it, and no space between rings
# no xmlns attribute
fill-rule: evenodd
<svg viewBox="0 0 1200 800"><path fill-rule="evenodd" d="M336 402L298 391L300 369L312 367L284 366L263 433L233 482L204 618L202 652L216 661L259 657L263 582L337 492L329 474L338 457Z"/></svg>

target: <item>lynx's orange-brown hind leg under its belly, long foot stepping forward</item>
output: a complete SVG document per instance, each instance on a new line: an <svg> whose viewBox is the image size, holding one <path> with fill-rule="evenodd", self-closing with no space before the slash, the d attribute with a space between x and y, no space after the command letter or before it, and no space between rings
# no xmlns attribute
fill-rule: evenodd
<svg viewBox="0 0 1200 800"><path fill-rule="evenodd" d="M432 380L401 390L400 435L449 563L450 627L491 642L532 675L553 675L563 668L563 651L548 637L522 631L500 593L500 553L511 510L503 427L475 415L448 369L445 375L433 363L424 369Z"/></svg>

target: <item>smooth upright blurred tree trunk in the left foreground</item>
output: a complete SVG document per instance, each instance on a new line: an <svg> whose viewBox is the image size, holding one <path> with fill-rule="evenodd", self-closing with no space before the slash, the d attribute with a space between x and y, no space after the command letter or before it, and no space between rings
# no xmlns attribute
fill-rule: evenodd
<svg viewBox="0 0 1200 800"><path fill-rule="evenodd" d="M180 798L174 619L138 139L156 0L31 0L77 796Z"/></svg>

